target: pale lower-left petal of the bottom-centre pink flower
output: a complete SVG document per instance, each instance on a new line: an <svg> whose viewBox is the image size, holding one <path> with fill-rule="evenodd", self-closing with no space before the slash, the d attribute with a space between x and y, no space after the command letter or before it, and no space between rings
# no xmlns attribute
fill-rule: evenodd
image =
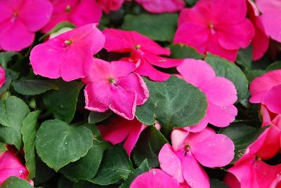
<svg viewBox="0 0 281 188"><path fill-rule="evenodd" d="M181 161L169 144L165 144L159 152L158 160L161 169L174 177L178 182L184 182Z"/></svg>

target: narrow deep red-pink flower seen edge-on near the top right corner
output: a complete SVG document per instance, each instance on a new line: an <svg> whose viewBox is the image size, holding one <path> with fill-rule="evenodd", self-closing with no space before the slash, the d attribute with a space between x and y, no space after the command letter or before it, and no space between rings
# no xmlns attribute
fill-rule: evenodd
<svg viewBox="0 0 281 188"><path fill-rule="evenodd" d="M249 13L249 19L254 25L255 34L251 42L253 47L253 60L259 60L266 53L269 46L269 37L266 35L261 17L259 16L259 10L256 8L256 4L251 0L247 0L247 7Z"/></svg>

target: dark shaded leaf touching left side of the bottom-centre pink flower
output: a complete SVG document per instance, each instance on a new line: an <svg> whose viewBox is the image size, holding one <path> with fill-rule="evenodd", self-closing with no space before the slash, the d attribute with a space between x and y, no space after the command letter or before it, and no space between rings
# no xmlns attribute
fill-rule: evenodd
<svg viewBox="0 0 281 188"><path fill-rule="evenodd" d="M159 166L158 154L166 143L168 141L155 126L146 128L133 149L133 161L141 166L143 160L147 159L151 168Z"/></svg>

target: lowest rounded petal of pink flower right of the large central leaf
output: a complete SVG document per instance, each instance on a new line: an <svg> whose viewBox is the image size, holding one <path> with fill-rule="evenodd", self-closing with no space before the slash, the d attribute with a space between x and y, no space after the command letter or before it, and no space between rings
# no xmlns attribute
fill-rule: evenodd
<svg viewBox="0 0 281 188"><path fill-rule="evenodd" d="M212 102L208 102L207 114L209 116L209 123L218 127L226 127L235 121L237 108L234 105L220 107Z"/></svg>

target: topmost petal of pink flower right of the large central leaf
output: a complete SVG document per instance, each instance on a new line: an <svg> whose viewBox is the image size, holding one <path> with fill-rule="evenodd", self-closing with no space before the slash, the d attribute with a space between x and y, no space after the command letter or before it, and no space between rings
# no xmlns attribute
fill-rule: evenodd
<svg viewBox="0 0 281 188"><path fill-rule="evenodd" d="M214 69L202 60L185 59L176 69L185 81L197 87L216 77Z"/></svg>

